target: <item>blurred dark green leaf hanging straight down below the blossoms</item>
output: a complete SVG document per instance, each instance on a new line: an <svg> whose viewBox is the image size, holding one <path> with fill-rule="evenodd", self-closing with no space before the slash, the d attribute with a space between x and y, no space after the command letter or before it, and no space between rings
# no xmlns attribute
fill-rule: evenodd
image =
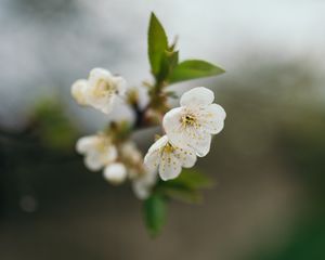
<svg viewBox="0 0 325 260"><path fill-rule="evenodd" d="M161 232L166 221L166 198L159 194L153 194L144 202L145 223L152 236Z"/></svg>

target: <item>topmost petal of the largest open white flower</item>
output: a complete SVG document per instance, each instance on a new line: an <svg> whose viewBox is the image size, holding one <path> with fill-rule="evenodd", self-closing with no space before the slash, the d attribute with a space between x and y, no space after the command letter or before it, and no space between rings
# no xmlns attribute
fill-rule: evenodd
<svg viewBox="0 0 325 260"><path fill-rule="evenodd" d="M213 102L214 94L211 90L205 87L197 87L181 96L181 106L203 106L209 105Z"/></svg>

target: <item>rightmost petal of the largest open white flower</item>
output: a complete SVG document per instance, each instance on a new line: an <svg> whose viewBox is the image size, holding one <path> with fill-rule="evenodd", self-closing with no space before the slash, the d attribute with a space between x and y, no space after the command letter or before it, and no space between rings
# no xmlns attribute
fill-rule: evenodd
<svg viewBox="0 0 325 260"><path fill-rule="evenodd" d="M224 109L220 105L211 104L202 110L199 121L208 132L217 134L223 129L224 119Z"/></svg>

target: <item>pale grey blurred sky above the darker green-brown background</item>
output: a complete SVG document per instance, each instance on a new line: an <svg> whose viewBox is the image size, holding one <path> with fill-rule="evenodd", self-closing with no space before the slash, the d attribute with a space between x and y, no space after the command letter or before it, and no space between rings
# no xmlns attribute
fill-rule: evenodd
<svg viewBox="0 0 325 260"><path fill-rule="evenodd" d="M73 103L70 84L95 66L123 75L130 84L150 79L151 11L169 36L179 35L181 58L216 62L229 72L223 77L252 54L308 58L324 69L322 0L1 0L1 123L20 121L49 92L67 93Z"/></svg>

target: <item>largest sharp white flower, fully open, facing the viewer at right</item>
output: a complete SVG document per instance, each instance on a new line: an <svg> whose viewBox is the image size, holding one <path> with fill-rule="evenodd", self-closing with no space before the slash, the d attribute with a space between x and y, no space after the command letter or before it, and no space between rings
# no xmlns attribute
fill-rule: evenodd
<svg viewBox="0 0 325 260"><path fill-rule="evenodd" d="M162 126L170 142L177 146L190 146L197 156L203 157L210 151L211 134L219 133L225 119L224 109L217 104L213 92L197 87L181 98L181 107L168 112Z"/></svg>

